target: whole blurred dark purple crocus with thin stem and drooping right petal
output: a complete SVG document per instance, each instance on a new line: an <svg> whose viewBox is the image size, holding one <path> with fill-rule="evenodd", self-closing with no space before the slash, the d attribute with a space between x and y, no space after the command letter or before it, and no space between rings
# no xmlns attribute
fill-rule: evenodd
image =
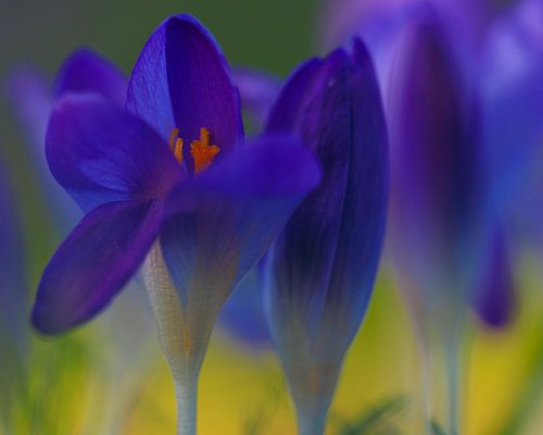
<svg viewBox="0 0 543 435"><path fill-rule="evenodd" d="M392 166L390 247L422 341L449 365L450 432L458 433L457 351L466 307L488 324L510 316L513 277L490 198L480 103L454 39L421 11L396 45L388 101Z"/></svg>

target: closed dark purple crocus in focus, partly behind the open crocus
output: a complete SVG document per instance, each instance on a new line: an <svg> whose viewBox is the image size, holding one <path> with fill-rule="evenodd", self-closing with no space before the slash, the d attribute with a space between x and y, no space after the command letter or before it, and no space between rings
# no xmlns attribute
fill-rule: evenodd
<svg viewBox="0 0 543 435"><path fill-rule="evenodd" d="M282 87L266 130L296 132L324 169L320 186L268 254L265 289L300 433L321 434L368 306L387 209L384 119L362 41L302 64Z"/></svg>

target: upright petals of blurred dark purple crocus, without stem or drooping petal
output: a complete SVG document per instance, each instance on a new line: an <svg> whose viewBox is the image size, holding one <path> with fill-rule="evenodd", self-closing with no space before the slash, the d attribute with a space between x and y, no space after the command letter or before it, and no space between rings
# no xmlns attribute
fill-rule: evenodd
<svg viewBox="0 0 543 435"><path fill-rule="evenodd" d="M406 287L442 322L473 282L488 185L475 91L453 50L433 12L413 17L396 47L388 102L393 257Z"/></svg>

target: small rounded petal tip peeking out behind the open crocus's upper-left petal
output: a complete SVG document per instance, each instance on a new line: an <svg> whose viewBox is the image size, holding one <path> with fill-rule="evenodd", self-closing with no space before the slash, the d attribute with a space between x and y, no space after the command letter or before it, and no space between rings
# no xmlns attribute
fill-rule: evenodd
<svg viewBox="0 0 543 435"><path fill-rule="evenodd" d="M119 107L125 104L126 88L124 73L88 49L77 50L64 61L54 84L58 97L65 92L97 92Z"/></svg>

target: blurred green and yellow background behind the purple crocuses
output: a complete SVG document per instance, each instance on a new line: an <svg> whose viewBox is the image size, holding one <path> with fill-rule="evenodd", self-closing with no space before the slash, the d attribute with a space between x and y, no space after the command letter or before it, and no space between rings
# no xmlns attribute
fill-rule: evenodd
<svg viewBox="0 0 543 435"><path fill-rule="evenodd" d="M62 60L80 46L93 48L128 74L150 33L177 12L198 16L231 64L283 76L318 53L317 10L318 2L311 0L2 0L0 77L21 63L38 66L52 77ZM28 145L4 99L0 156L17 192L30 302L60 235ZM407 312L386 264L348 355L331 409L330 434L345 421L395 398L406 401L387 419L402 434L417 433L419 361ZM520 300L514 323L500 332L471 326L465 339L469 357L464 361L464 434L543 433L543 259L526 253L518 264ZM174 433L173 385L154 343L154 331L128 331L152 330L149 313L141 322L144 326L134 325L138 323L134 316L125 328L111 319L119 308L115 306L134 303L125 299L76 332L33 339L29 374L21 388L24 393L14 396L9 406L15 434ZM124 315L126 310L130 312L130 307L123 309ZM104 340L111 328L115 334ZM122 355L125 347L130 349L129 359ZM433 375L438 391L441 377L439 372ZM203 366L199 406L203 435L294 433L292 407L273 351L248 349L220 331L213 337ZM443 412L439 401L435 412ZM381 424L370 433L396 433L384 432L389 430Z"/></svg>

